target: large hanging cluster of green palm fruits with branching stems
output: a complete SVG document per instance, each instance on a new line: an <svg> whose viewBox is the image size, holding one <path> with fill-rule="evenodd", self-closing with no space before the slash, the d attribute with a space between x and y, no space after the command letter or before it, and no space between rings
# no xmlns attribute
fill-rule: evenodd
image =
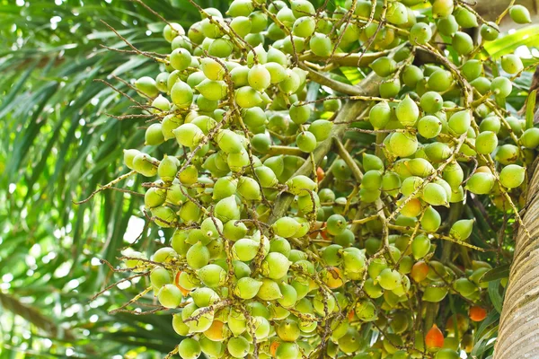
<svg viewBox="0 0 539 359"><path fill-rule="evenodd" d="M471 244L464 203L518 219L539 145L505 106L521 59L482 52L497 22L458 0L193 5L201 20L167 22L170 54L148 55L163 72L134 83L151 124L145 151L124 153L152 180L148 218L172 229L152 256L123 257L185 337L172 355L469 352L493 257ZM331 76L343 66L365 79Z"/></svg>

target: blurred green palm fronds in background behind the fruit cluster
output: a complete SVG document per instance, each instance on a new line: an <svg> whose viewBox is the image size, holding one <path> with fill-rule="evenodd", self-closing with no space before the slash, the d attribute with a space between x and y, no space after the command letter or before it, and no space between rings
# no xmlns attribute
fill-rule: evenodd
<svg viewBox="0 0 539 359"><path fill-rule="evenodd" d="M187 0L145 3L185 28L199 19ZM197 3L226 7L221 0ZM89 302L111 283L110 270L98 258L116 264L119 250L141 232L136 247L150 252L166 236L144 228L140 197L108 191L83 206L73 204L125 173L122 149L144 142L144 132L136 130L145 126L144 119L107 116L137 109L94 80L108 79L126 90L111 75L129 81L158 71L145 57L101 48L126 46L100 20L137 48L163 52L168 47L163 25L134 2L0 0L2 358L152 357L170 351L179 339L163 335L170 332L169 317L108 314L135 295L134 288L120 286L121 291L110 290ZM539 44L536 25L523 31L531 34L526 45ZM514 39L523 36L517 31L487 50L498 55L512 51ZM360 74L344 69L339 76L355 83ZM511 105L522 105L530 82L531 74L524 76ZM137 185L129 181L126 188ZM493 221L499 228L504 219ZM489 226L479 223L477 241L495 235L496 228Z"/></svg>

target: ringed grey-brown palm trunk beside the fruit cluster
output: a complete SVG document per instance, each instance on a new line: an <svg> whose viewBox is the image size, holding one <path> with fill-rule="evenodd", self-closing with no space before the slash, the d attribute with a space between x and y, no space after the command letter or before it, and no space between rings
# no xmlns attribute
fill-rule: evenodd
<svg viewBox="0 0 539 359"><path fill-rule="evenodd" d="M523 228L517 231L515 257L499 320L494 359L539 358L539 166L526 197Z"/></svg>

